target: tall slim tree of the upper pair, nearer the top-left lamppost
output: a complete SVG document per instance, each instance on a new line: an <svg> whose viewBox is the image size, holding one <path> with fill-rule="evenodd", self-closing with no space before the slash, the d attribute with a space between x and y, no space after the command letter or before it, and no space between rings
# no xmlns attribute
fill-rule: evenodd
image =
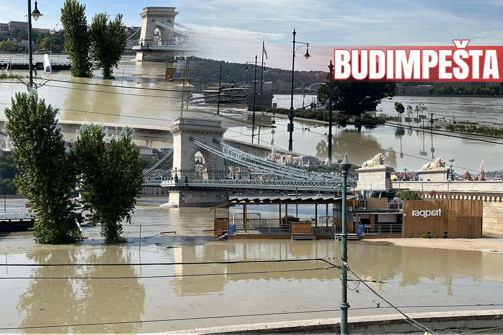
<svg viewBox="0 0 503 335"><path fill-rule="evenodd" d="M86 6L77 0L66 0L61 8L61 24L64 29L64 48L70 56L70 73L75 77L89 77L91 57L89 55L91 41L86 18Z"/></svg>

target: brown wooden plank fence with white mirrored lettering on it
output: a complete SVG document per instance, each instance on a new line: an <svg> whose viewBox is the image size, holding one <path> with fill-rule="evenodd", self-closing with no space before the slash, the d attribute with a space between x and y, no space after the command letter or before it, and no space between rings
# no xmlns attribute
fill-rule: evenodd
<svg viewBox="0 0 503 335"><path fill-rule="evenodd" d="M405 200L402 236L482 237L482 209L482 200Z"/></svg>

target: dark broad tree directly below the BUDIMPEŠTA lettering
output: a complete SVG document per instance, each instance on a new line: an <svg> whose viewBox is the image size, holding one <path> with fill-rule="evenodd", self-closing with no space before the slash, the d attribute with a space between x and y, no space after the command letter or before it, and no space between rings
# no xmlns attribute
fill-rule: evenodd
<svg viewBox="0 0 503 335"><path fill-rule="evenodd" d="M318 101L328 104L328 83L318 89ZM347 115L360 116L395 94L394 82L336 81L332 84L333 107Z"/></svg>

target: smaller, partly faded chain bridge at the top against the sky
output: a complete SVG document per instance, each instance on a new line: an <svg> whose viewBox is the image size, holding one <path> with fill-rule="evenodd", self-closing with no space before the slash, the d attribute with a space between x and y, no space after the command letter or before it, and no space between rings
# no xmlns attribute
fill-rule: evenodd
<svg viewBox="0 0 503 335"><path fill-rule="evenodd" d="M176 7L145 7L141 28L128 38L126 49L136 51L137 61L165 61L197 51L198 35L175 22ZM138 32L140 32L139 38Z"/></svg>

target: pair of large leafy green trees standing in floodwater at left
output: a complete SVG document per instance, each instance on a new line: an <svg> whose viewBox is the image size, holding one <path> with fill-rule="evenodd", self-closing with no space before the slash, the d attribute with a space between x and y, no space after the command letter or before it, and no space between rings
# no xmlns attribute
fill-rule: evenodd
<svg viewBox="0 0 503 335"><path fill-rule="evenodd" d="M16 93L5 115L19 173L0 164L3 178L15 175L19 193L33 204L36 242L75 242L81 238L78 224L84 220L101 224L106 242L123 241L121 222L131 222L130 212L143 182L132 130L125 128L118 139L105 143L101 126L85 126L75 148L66 152L58 113L36 91ZM76 185L82 186L82 202L70 199ZM84 217L85 210L90 214Z"/></svg>

